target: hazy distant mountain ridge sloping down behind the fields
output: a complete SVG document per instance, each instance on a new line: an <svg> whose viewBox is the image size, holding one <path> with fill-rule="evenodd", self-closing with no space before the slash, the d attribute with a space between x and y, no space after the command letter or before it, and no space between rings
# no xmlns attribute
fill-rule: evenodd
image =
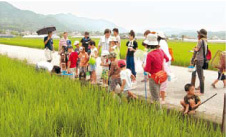
<svg viewBox="0 0 226 137"><path fill-rule="evenodd" d="M20 10L7 2L0 2L0 29L16 31L36 31L44 26L56 26L58 31L104 31L118 27L106 20L77 17L72 14L42 15L28 10Z"/></svg>

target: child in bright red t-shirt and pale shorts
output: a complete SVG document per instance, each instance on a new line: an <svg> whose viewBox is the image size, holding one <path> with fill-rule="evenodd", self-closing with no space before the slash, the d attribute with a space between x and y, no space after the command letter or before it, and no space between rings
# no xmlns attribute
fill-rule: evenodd
<svg viewBox="0 0 226 137"><path fill-rule="evenodd" d="M68 46L68 53L69 53L69 59L68 59L68 73L72 73L72 77L75 78L76 74L76 63L78 59L78 53L73 52L73 47Z"/></svg>

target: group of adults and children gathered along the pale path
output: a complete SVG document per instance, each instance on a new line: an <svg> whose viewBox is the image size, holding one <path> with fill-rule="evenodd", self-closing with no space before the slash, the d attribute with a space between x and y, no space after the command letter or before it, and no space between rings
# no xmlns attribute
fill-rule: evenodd
<svg viewBox="0 0 226 137"><path fill-rule="evenodd" d="M112 31L113 36L111 36L110 29L104 31L104 36L100 38L97 47L95 41L89 37L89 33L85 32L84 38L80 42L74 42L75 48L68 39L68 33L64 32L59 42L58 54L60 55L60 64L59 66L51 66L49 68L52 68L52 70L48 70L59 74L61 72L72 74L73 78L79 78L80 80L86 79L86 76L90 74L91 84L96 84L96 60L101 55L102 86L109 87L109 90L115 93L116 86L119 85L121 93L130 98L137 98L131 92L132 83L136 81L134 54L138 49L138 42L135 38L135 32L133 30L129 32L129 40L126 43L126 61L124 61L120 60L121 40L119 30L114 28ZM52 32L49 32L48 36L44 38L47 62L52 61L52 51L54 50L51 36ZM160 102L161 98L161 104L164 104L167 83L171 79L170 65L172 53L168 48L164 33L147 30L144 32L144 37L145 40L142 42L142 45L145 47L145 58L142 64L144 69L144 80L142 82L149 81L152 101ZM185 85L187 95L181 101L185 114L190 111L192 112L201 102L199 97L193 92L196 73L200 80L200 94L204 93L203 65L206 60L203 55L208 52L206 38L206 30L201 29L198 31L198 44L194 48L194 55L191 59L191 64L196 66L196 71L192 73L191 83ZM41 67L40 64L37 64L38 68Z"/></svg>

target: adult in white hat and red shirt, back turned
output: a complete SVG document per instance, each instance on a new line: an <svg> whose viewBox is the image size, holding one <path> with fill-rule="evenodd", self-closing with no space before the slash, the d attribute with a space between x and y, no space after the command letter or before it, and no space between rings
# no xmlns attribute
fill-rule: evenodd
<svg viewBox="0 0 226 137"><path fill-rule="evenodd" d="M164 59L166 62L169 61L166 54L161 49L159 49L159 43L157 39L157 34L151 33L149 34L148 39L144 41L144 43L150 49L150 52L147 55L144 71L149 73L149 90L154 102L159 102L160 84L155 83L150 75L154 75L155 73L158 73L162 70Z"/></svg>

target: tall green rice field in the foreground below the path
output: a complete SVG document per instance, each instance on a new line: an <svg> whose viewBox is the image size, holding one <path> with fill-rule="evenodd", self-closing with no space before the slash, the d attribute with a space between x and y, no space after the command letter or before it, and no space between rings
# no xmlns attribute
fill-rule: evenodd
<svg viewBox="0 0 226 137"><path fill-rule="evenodd" d="M219 127L142 101L120 104L98 87L0 55L0 136L220 137Z"/></svg>

